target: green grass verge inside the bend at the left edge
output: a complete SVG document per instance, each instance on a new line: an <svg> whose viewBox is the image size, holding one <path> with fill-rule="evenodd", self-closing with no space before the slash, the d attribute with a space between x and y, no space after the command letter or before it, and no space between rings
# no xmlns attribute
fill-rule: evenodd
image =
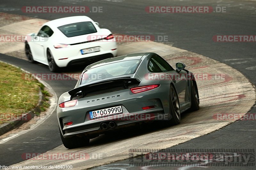
<svg viewBox="0 0 256 170"><path fill-rule="evenodd" d="M39 88L46 97L51 96L36 79L24 79L24 72L17 67L0 62L0 124L6 123L34 109L39 101ZM45 111L47 102L41 106Z"/></svg>

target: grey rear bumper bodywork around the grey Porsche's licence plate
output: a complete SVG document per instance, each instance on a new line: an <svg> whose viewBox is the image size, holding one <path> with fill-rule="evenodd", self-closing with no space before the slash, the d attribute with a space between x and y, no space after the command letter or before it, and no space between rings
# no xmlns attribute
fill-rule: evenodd
<svg viewBox="0 0 256 170"><path fill-rule="evenodd" d="M115 121L117 127L153 120L169 119L169 84L133 94L130 89L114 91L106 94L88 96L78 99L76 106L70 108L57 107L57 117L64 138L79 134L104 133L100 124ZM121 114L90 119L89 111L122 106ZM154 106L143 110L142 107ZM139 117L138 117L139 115ZM65 123L72 125L64 126Z"/></svg>

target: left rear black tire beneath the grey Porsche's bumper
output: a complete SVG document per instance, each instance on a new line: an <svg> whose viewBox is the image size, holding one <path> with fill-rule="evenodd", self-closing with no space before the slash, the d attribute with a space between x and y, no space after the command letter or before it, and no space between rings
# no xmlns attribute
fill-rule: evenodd
<svg viewBox="0 0 256 170"><path fill-rule="evenodd" d="M63 145L68 149L86 146L90 142L90 139L87 138L86 136L84 137L73 136L71 138L64 138L61 134L61 131L60 131L60 138Z"/></svg>

